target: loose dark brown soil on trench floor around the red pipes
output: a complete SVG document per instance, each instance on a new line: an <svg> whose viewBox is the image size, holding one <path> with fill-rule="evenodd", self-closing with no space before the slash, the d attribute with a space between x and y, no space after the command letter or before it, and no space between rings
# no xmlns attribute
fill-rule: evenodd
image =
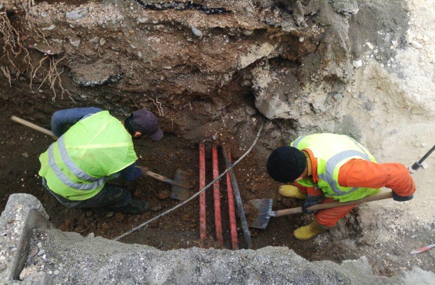
<svg viewBox="0 0 435 285"><path fill-rule="evenodd" d="M64 207L42 187L41 179L38 176L40 167L38 157L47 149L52 140L9 120L10 115L18 114L28 120L45 121L46 124L43 126L48 128L49 116L36 111L26 115L22 108L4 100L1 101L0 109L2 122L0 127L0 184L2 189L0 210L4 209L10 194L29 193L35 195L43 203L51 223L60 230L74 231L83 236L94 233L95 236L114 238L179 202L165 197L165 193L170 191L170 186L151 178L142 178L132 183L125 183L121 180L116 180L114 183L130 189L136 199L149 201L151 210L145 214L127 215L109 213L103 208L79 210ZM140 157L138 164L147 166L152 171L168 177L173 176L179 167L192 169L198 173L198 147L196 143L180 140L173 134L166 134L160 142L135 141L135 147ZM254 150L235 169L242 191L242 199L246 201L252 198L275 198L278 200L275 202L274 208L298 206L296 202L289 199L279 200L276 191L278 184L265 175L264 161L257 158ZM223 171L222 158L220 161L220 171ZM212 179L209 151L206 154L206 171L206 181L209 182ZM224 247L231 248L226 179L220 181L220 186ZM212 189L207 190L208 239L205 242L199 242L198 200L193 200L184 207L152 223L149 227L123 238L122 241L148 244L163 250L191 246L219 248L219 244L213 242L215 230L212 196ZM302 215L271 219L266 230L251 229L254 248L284 245L306 258L310 258L313 254L313 243L310 241L301 242L292 237L292 231L305 223L307 221L302 220ZM245 247L239 220L238 238L240 247Z"/></svg>

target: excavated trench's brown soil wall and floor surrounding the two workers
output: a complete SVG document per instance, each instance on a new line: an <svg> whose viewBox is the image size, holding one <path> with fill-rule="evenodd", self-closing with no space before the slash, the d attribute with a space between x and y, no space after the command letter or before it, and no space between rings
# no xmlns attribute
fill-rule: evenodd
<svg viewBox="0 0 435 285"><path fill-rule="evenodd" d="M240 157L267 120L257 146L235 169L242 199L274 198L277 209L299 206L277 194L279 184L265 171L268 153L305 133L336 131L362 138L343 107L352 100L346 93L352 62L362 56L366 41L383 40L376 34L380 29L402 44L407 17L401 4L38 0L23 6L20 1L5 1L1 17L15 32L7 35L3 29L0 34L4 41L12 39L22 47L6 45L0 58L10 77L0 74L0 209L9 194L30 193L60 230L114 238L178 203L167 197L167 185L148 178L116 181L131 189L135 198L150 202L151 211L138 216L66 209L43 189L37 176L38 156L51 141L8 118L16 115L49 128L55 110L84 106L107 109L119 119L141 107L153 111L165 137L160 142L135 142L135 148L140 165L167 176L179 167L198 172L200 141L230 145L233 157ZM385 16L386 11L396 20ZM379 21L369 21L372 17ZM379 55L387 58L393 52L386 48ZM207 181L211 181L207 158ZM221 205L224 247L230 248L224 179ZM199 242L197 200L122 241L163 250L217 247L212 240L210 190L206 208L210 238L206 242ZM358 212L353 210L340 222L343 237L361 238ZM265 231L252 229L254 248L288 246L309 260L358 258L342 248L331 254L313 240L293 238L292 231L310 219L292 215L271 220ZM240 228L238 236L243 247Z"/></svg>

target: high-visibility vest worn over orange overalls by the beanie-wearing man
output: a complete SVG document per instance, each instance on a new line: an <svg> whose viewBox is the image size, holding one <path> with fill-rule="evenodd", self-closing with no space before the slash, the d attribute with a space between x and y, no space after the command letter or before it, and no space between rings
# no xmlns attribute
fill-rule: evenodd
<svg viewBox="0 0 435 285"><path fill-rule="evenodd" d="M305 148L311 150L317 159L318 183L303 178L297 181L300 185L321 189L325 196L340 202L358 200L381 191L381 189L338 185L339 169L347 161L356 158L376 162L369 150L354 139L344 135L314 134L299 137L290 145L299 150Z"/></svg>

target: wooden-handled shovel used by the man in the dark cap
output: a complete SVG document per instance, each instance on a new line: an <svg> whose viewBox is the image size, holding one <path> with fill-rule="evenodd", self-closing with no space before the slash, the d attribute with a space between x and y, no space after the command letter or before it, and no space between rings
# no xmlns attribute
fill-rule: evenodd
<svg viewBox="0 0 435 285"><path fill-rule="evenodd" d="M52 137L54 140L58 139L51 131L44 129L43 127L40 127L38 125L35 125L29 121L18 118L16 116L11 116L10 119L21 125L24 125L38 132L46 134ZM175 172L174 180L171 180L167 177L164 177L160 174L151 171L147 171L145 175L172 185L171 197L177 200L186 200L187 198L189 198L191 196L191 191L189 189L192 189L196 183L195 182L196 179L193 178L193 175L190 171L184 171L181 169L177 169L177 171Z"/></svg>

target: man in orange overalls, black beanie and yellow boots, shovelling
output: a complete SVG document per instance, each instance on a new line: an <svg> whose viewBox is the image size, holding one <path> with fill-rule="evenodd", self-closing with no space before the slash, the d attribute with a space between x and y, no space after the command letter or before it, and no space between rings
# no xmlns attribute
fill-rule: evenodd
<svg viewBox="0 0 435 285"><path fill-rule="evenodd" d="M412 199L415 183L399 163L376 163L367 148L352 138L336 134L302 136L272 151L267 160L270 177L283 185L285 197L305 199L302 210L314 213L314 221L298 228L297 239L310 239L334 227L356 205L320 211L307 210L318 203L358 200L378 193L382 187L393 191L393 199Z"/></svg>

